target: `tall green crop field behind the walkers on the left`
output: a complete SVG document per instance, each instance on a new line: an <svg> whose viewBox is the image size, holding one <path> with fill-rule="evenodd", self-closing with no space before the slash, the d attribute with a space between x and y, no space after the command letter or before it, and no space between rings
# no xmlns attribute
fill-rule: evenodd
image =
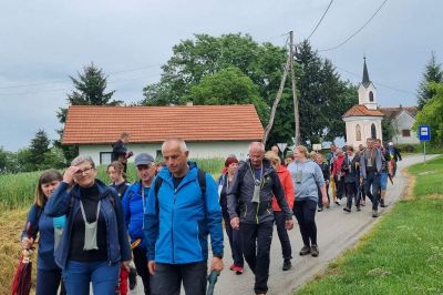
<svg viewBox="0 0 443 295"><path fill-rule="evenodd" d="M224 166L223 159L197 159L192 160L206 172L218 177ZM62 172L62 171L61 171ZM41 171L18 173L18 174L0 174L0 211L4 213L8 210L28 207L34 199L35 185L40 177ZM136 169L133 163L127 165L127 180L135 182L137 180ZM106 165L97 166L97 179L104 183L110 183L106 175Z"/></svg>

